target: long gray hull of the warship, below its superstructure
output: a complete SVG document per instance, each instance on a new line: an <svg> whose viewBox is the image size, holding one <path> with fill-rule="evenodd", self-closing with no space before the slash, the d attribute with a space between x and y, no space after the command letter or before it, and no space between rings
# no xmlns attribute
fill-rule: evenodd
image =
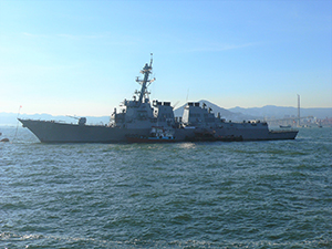
<svg viewBox="0 0 332 249"><path fill-rule="evenodd" d="M56 123L53 121L21 120L42 143L125 143L132 134L148 136L151 128L121 128L102 125L79 125ZM196 139L197 129L176 128L174 142L204 141ZM257 128L218 128L210 131L214 141L277 141L294 139L298 131L276 131ZM210 139L206 139L210 141Z"/></svg>

